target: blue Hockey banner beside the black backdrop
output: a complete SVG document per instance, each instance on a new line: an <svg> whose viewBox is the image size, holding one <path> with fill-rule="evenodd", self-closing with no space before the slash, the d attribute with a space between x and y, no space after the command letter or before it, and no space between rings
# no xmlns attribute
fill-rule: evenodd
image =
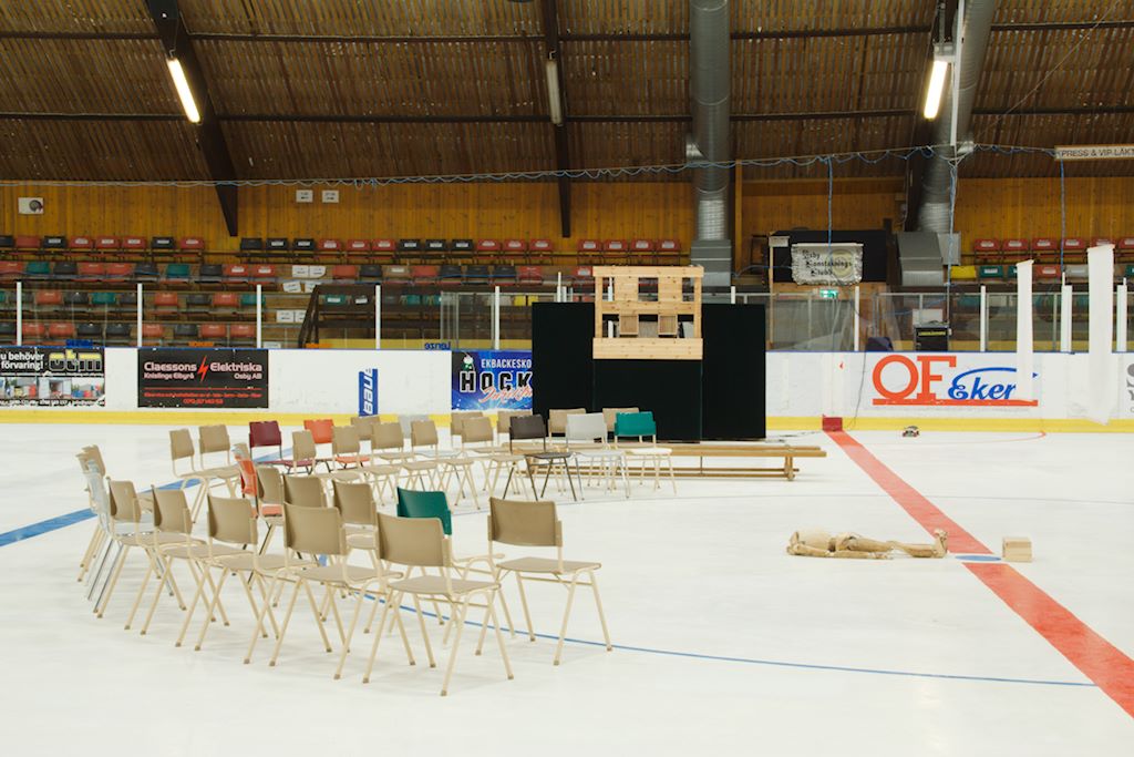
<svg viewBox="0 0 1134 757"><path fill-rule="evenodd" d="M454 410L531 410L532 353L452 353Z"/></svg>

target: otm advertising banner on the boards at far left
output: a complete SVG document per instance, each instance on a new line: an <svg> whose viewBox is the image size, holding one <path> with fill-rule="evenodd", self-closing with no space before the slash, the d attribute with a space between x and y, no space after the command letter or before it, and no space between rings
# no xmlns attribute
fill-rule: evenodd
<svg viewBox="0 0 1134 757"><path fill-rule="evenodd" d="M0 347L0 406L104 405L101 348Z"/></svg>

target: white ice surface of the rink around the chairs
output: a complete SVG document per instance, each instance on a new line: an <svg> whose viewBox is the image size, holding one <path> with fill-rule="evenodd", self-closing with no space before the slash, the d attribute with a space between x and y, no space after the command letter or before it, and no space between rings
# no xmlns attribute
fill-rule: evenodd
<svg viewBox="0 0 1134 757"><path fill-rule="evenodd" d="M804 527L930 540L870 471L820 432L785 435L829 453L802 460L794 481L679 480L677 496L635 483L628 501L591 486L581 503L556 497L566 557L603 565L613 651L603 649L594 605L581 590L564 664L552 666L565 591L551 584L528 592L538 641L521 633L507 641L515 680L505 680L494 647L475 657L466 636L447 698L438 696L442 670L421 663L420 632L408 613L418 665L409 667L400 647L383 641L365 685L371 637L358 637L344 679L335 681L337 655L322 650L303 605L277 667L268 666L266 642L251 665L242 664L253 621L231 584L225 592L231 625L215 624L201 651L175 648L181 612L172 602L158 607L147 636L122 629L145 570L141 553L98 620L75 580L94 521L50 522L86 508L74 457L85 444L101 446L116 479L139 488L176 480L167 430L3 427L0 710L9 754L712 749L1034 757L1123 754L1134 743L1134 683L1110 692L1097 685L1065 656L1067 645L1093 654L1083 651L1077 632L1055 629L1052 642L1025 621L1021 609L1026 614L1027 607L995 594L957 555L788 556L789 535ZM234 427L231 434L239 440L243 431ZM849 437L993 554L1002 537L1030 538L1034 562L1009 570L1129 665L1128 437ZM467 499L457 507L454 531L457 554L485 550L484 513ZM185 573L183 587L189 582ZM505 590L522 626L515 583ZM430 632L440 646L439 626Z"/></svg>

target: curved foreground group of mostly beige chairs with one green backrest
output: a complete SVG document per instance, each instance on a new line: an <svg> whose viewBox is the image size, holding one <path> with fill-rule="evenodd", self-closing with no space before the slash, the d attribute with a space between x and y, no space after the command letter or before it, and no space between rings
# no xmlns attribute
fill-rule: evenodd
<svg viewBox="0 0 1134 757"><path fill-rule="evenodd" d="M401 602L408 597L416 611L431 667L435 666L435 659L421 603L432 603L439 620L449 621L446 641L452 634L452 648L441 684L441 693L445 696L448 693L469 608L479 607L484 611L477 655L491 625L507 676L513 678L501 633L503 624L499 621L496 607L500 605L508 631L515 637L515 625L501 594L505 577L515 575L531 641L535 640L535 632L525 596L525 582L547 581L568 589L555 664L558 665L561 661L567 623L578 587L592 590L606 647L608 650L612 648L595 579L595 571L601 564L564 558L562 527L551 502L493 498L488 516L486 554L457 558L454 556L451 518L443 493L399 489L397 514L387 514L380 511L365 485L335 481L333 496L327 501L322 498L321 483L313 480L313 477L286 476L280 477L281 481L276 488L245 486L243 494L251 496L210 494L208 535L201 539L193 536L193 520L183 490L151 487L139 495L133 483L105 476L98 447L84 448L79 454L79 462L86 477L90 506L98 516L96 529L81 561L79 580L86 577L88 597L94 599L94 612L102 617L127 555L134 549L141 550L146 557L147 567L126 628L133 625L151 579L156 579L141 629L143 634L150 630L161 597L169 591L185 613L177 646L184 642L197 606L205 607L195 644L195 648L200 650L215 619L223 620L228 625L221 594L228 577L235 575L255 619L245 663L251 662L257 641L269 637L269 630L276 637L270 664L277 663L296 602L303 592L327 651L331 651L332 647L324 623L329 617L335 619L341 644L335 672L335 678L338 679L344 671L365 603L373 602L366 632L373 628L380 604L382 614L373 632L374 641L363 675L363 681L369 682L379 644L388 628L391 632L397 629L407 661L411 664L414 662L400 614ZM257 474L263 470L264 466L255 469ZM268 538L260 544L259 530L262 524L269 524L270 531L273 527L282 528L285 548L281 554L269 550ZM500 547L515 546L549 547L556 550L555 557L524 556L506 560L498 552ZM370 564L352 564L349 557L354 552L366 553ZM177 587L175 575L175 566L181 563L188 566L195 583L195 592L188 606ZM415 570L420 575L413 575ZM437 574L429 574L428 571L437 571ZM469 573L479 573L484 578L471 579ZM293 587L290 602L285 617L278 622L272 607L277 606L288 584ZM323 590L319 603L313 588ZM346 629L337 607L338 596L354 599L354 613ZM439 604L450 608L448 619L441 614Z"/></svg>

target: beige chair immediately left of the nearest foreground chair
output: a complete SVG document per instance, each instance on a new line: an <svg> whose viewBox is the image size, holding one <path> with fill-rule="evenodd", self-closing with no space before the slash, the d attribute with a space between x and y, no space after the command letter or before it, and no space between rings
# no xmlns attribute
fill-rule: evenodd
<svg viewBox="0 0 1134 757"><path fill-rule="evenodd" d="M276 572L274 580L289 579L295 582L295 590L291 592L287 614L284 616L284 623L280 625L279 636L276 639L276 649L272 651L272 658L268 664L274 666L279 659L280 648L284 646L284 637L287 634L291 613L295 609L295 603L299 597L301 590L307 595L307 602L311 604L315 624L319 626L319 633L323 639L323 647L327 651L331 651L331 644L327 638L327 630L323 628L320 608L315 603L315 595L311 590L311 584L318 583L325 589L325 596L330 603L331 612L335 614L339 639L342 644L339 665L335 671L335 678L338 679L342 674L342 666L346 663L347 654L350 651L350 640L354 638L354 631L358 624L358 616L362 614L363 603L366 600L367 592L383 596L389 602L386 590L387 579L399 578L401 573L384 571L374 566L363 567L348 564L346 560L349 552L347 535L342 525L342 515L337 508L302 507L287 504L284 506L284 513L285 564ZM312 565L310 563L296 563L293 560L295 554L325 555L329 564ZM342 620L339 615L338 605L335 602L335 592L339 590L357 595L355 612L350 620L350 625L346 631L342 629ZM272 590L269 590L269 596L271 594ZM252 658L256 640L260 638L263 614L266 612L268 605L269 603L262 603L261 605L257 628L253 633L252 644L248 646L246 662ZM409 649L409 640L406 638L400 617L396 620L396 623L401 632L406 656L409 658L409 663L413 664L413 653Z"/></svg>

